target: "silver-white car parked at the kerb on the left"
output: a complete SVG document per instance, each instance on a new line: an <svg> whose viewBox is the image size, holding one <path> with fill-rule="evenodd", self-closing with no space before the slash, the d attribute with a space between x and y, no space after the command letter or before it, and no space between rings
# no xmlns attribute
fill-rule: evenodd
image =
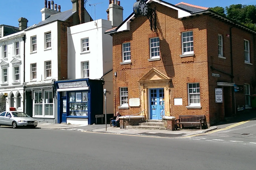
<svg viewBox="0 0 256 170"><path fill-rule="evenodd" d="M37 120L30 117L24 112L19 111L5 111L0 113L0 126L12 126L14 129L17 127L37 127Z"/></svg>

